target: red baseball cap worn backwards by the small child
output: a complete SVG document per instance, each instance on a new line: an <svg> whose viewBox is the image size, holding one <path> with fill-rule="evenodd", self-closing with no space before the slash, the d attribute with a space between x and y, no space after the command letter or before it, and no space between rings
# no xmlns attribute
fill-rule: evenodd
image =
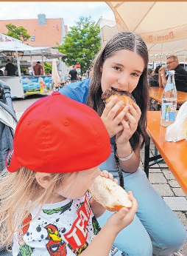
<svg viewBox="0 0 187 256"><path fill-rule="evenodd" d="M53 92L32 104L15 129L9 172L79 172L110 155L110 137L99 115L85 104Z"/></svg>

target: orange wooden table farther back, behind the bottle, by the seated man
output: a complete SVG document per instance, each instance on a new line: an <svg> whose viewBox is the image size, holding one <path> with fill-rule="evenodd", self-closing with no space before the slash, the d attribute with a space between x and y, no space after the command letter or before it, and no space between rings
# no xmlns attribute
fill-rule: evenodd
<svg viewBox="0 0 187 256"><path fill-rule="evenodd" d="M150 87L149 88L149 96L150 98L154 98L158 103L162 103L162 94L163 88L160 87ZM177 91L177 104L182 105L187 101L187 92L179 92Z"/></svg>

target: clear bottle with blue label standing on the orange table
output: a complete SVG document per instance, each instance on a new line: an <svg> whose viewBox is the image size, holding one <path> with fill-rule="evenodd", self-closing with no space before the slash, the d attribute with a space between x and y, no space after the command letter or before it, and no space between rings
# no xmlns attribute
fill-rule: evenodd
<svg viewBox="0 0 187 256"><path fill-rule="evenodd" d="M168 72L168 80L163 90L161 121L163 127L169 127L174 123L177 109L177 90L174 82L174 70Z"/></svg>

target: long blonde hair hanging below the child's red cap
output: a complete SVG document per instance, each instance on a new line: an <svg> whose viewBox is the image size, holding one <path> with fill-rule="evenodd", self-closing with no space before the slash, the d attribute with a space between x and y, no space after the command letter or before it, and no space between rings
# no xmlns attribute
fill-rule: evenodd
<svg viewBox="0 0 187 256"><path fill-rule="evenodd" d="M74 172L73 172L74 173ZM40 205L40 210L55 189L63 186L63 180L71 173L52 173L49 186L44 189L35 178L36 172L21 167L16 172L7 169L0 177L0 241L1 245L10 246L15 229L23 222L28 213ZM77 176L76 176L77 177ZM75 178L76 178L75 177Z"/></svg>

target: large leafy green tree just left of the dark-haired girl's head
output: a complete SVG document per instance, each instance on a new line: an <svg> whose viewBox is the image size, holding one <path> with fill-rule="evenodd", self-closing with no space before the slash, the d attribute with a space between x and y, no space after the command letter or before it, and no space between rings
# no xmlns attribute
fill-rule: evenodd
<svg viewBox="0 0 187 256"><path fill-rule="evenodd" d="M70 27L71 31L64 37L63 44L58 44L57 49L66 54L62 60L67 66L79 63L81 73L85 73L101 48L100 29L95 21L91 21L91 17L80 17L76 24Z"/></svg>

